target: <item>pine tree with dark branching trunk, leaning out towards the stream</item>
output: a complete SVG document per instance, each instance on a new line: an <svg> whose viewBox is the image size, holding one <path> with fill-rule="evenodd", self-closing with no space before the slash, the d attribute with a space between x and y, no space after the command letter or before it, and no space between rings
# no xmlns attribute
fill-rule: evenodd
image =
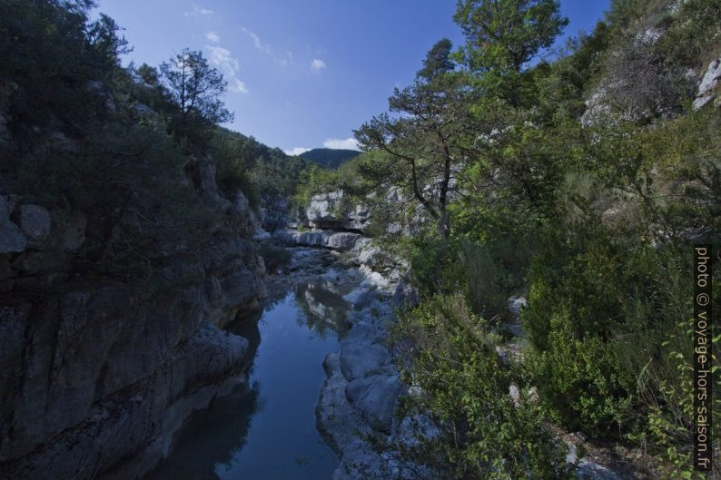
<svg viewBox="0 0 721 480"><path fill-rule="evenodd" d="M449 235L448 204L454 168L463 157L462 139L470 125L469 91L450 59L451 43L440 40L409 86L389 99L391 117L381 113L355 131L365 151L380 150L385 162L362 171L380 190L400 186L410 207L420 204Z"/></svg>

